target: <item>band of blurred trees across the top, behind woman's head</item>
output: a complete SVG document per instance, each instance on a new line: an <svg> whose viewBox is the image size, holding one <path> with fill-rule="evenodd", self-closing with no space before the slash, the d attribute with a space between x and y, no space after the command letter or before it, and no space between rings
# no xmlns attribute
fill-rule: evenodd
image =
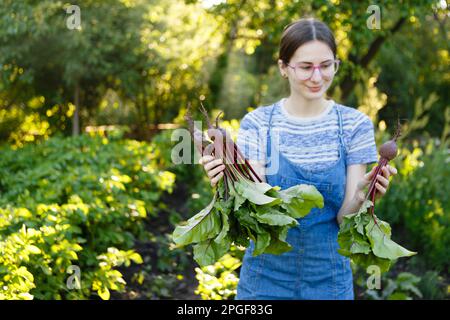
<svg viewBox="0 0 450 320"><path fill-rule="evenodd" d="M73 30L68 4L3 2L0 105L21 112L8 121L0 116L1 137L21 126L22 113L42 123L41 134L47 125L45 134L68 133L77 86L84 123L137 123L141 135L143 124L171 121L198 97L228 118L240 117L287 94L276 65L280 36L285 25L309 15L331 27L343 60L331 96L372 115L387 95L381 119L392 120L399 111L410 118L412 97L436 91L430 117L438 125L427 130L435 135L442 126L449 48L446 8L438 0L400 7L383 1L380 29L367 27L371 13L363 2L229 0L207 7L192 0L84 0L72 3L81 10L81 28ZM432 50L419 50L423 43ZM398 74L404 81L396 81ZM44 102L33 107L35 100Z"/></svg>

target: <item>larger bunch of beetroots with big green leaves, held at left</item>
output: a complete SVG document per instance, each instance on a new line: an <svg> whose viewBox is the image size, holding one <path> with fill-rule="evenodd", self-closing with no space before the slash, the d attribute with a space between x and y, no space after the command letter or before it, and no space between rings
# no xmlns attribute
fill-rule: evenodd
<svg viewBox="0 0 450 320"><path fill-rule="evenodd" d="M219 127L219 117L214 127L203 106L201 110L208 137L195 127L188 108L191 137L200 154L223 160L224 178L209 205L175 228L175 244L194 244L194 259L201 266L219 260L233 243L247 247L254 241L254 256L291 250L286 242L288 229L311 209L322 208L322 195L310 185L280 190L262 182L226 130Z"/></svg>

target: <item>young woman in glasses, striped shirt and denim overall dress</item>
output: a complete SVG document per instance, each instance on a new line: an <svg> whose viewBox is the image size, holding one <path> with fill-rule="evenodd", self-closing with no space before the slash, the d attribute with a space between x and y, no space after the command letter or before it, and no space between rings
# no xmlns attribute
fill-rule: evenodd
<svg viewBox="0 0 450 320"><path fill-rule="evenodd" d="M371 120L363 113L326 98L339 68L330 29L315 19L286 26L278 65L288 79L290 95L245 115L238 146L271 185L282 189L314 185L324 208L313 209L291 228L293 249L281 255L252 256L251 242L243 258L237 299L353 299L348 258L338 252L337 234L344 214L356 212L374 170L377 150ZM200 159L215 185L223 177L221 160ZM377 177L383 195L387 166Z"/></svg>

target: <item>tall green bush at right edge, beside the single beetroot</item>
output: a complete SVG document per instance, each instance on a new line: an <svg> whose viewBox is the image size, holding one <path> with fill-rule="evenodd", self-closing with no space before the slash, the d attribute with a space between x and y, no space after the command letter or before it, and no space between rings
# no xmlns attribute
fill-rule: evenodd
<svg viewBox="0 0 450 320"><path fill-rule="evenodd" d="M394 165L399 174L380 201L380 216L403 232L402 243L428 269L448 272L450 265L449 152L430 141L423 149L403 148Z"/></svg>

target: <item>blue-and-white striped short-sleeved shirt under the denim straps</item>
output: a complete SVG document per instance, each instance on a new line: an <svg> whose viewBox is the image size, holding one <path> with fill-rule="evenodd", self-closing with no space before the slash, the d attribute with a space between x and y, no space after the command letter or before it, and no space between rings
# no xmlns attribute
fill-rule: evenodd
<svg viewBox="0 0 450 320"><path fill-rule="evenodd" d="M276 102L272 132L277 132L276 148L291 162L305 169L326 168L339 157L339 126L336 103L315 117L300 118L284 109L285 98ZM247 113L241 121L237 145L251 160L266 161L266 137L271 105ZM347 165L369 164L378 160L374 126L364 113L340 105Z"/></svg>

